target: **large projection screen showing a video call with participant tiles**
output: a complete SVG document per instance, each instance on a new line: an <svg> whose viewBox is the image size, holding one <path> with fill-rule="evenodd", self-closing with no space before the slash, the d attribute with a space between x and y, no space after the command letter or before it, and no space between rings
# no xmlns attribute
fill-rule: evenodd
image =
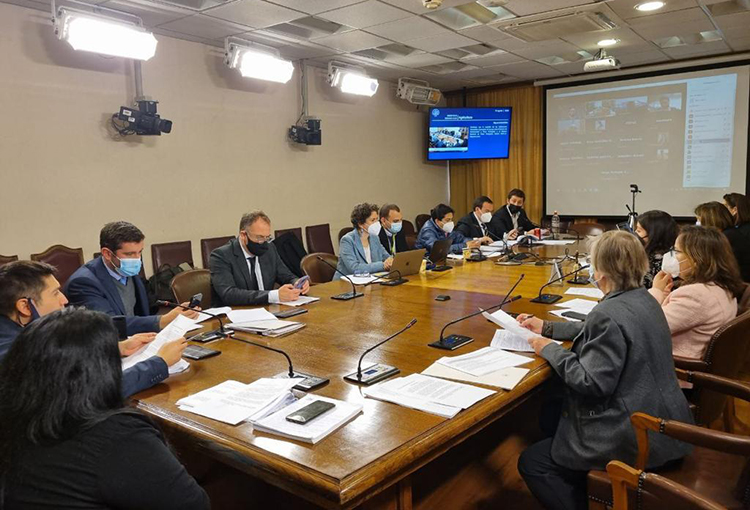
<svg viewBox="0 0 750 510"><path fill-rule="evenodd" d="M692 216L745 193L748 66L547 89L546 212Z"/></svg>

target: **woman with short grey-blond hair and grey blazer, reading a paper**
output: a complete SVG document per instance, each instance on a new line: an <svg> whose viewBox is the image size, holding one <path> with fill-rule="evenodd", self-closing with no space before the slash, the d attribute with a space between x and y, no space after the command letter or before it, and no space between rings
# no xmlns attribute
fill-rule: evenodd
<svg viewBox="0 0 750 510"><path fill-rule="evenodd" d="M675 376L669 326L642 286L648 269L643 246L627 232L605 232L592 246L591 268L605 295L584 322L518 317L544 335L529 343L563 385L554 437L533 444L518 460L526 485L547 510L586 509L588 471L603 470L613 459L635 463L632 413L693 422ZM568 350L550 338L573 340L573 346ZM649 469L690 451L661 434L649 441Z"/></svg>

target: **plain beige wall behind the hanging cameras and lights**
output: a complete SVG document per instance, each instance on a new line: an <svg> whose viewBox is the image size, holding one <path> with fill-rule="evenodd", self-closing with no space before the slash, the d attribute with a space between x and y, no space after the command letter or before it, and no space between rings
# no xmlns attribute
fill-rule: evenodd
<svg viewBox="0 0 750 510"><path fill-rule="evenodd" d="M425 113L381 82L345 97L310 70L309 111L323 145L299 148L298 71L286 85L242 79L216 48L159 36L144 90L174 121L161 137L115 140L107 119L134 96L129 61L75 52L49 15L0 4L0 254L26 258L52 244L98 251L108 221L149 243L236 234L262 208L273 228L349 224L355 203L398 203L407 219L448 199L444 165L424 162ZM310 69L310 68L309 68Z"/></svg>

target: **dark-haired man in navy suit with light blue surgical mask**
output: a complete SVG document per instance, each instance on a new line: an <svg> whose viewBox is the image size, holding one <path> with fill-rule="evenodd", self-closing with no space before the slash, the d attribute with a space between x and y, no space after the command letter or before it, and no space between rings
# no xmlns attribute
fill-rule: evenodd
<svg viewBox="0 0 750 510"><path fill-rule="evenodd" d="M161 331L180 314L196 318L198 312L180 308L165 315L149 313L146 286L138 276L144 239L143 232L126 221L104 225L99 233L102 256L78 268L65 284L70 303L124 315L128 335Z"/></svg>

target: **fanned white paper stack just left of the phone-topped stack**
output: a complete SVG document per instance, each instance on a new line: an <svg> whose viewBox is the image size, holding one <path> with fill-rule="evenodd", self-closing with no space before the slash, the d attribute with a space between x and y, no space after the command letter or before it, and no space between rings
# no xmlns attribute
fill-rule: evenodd
<svg viewBox="0 0 750 510"><path fill-rule="evenodd" d="M258 379L250 384L223 383L177 401L183 411L237 425L257 420L288 405L291 389L300 379Z"/></svg>

